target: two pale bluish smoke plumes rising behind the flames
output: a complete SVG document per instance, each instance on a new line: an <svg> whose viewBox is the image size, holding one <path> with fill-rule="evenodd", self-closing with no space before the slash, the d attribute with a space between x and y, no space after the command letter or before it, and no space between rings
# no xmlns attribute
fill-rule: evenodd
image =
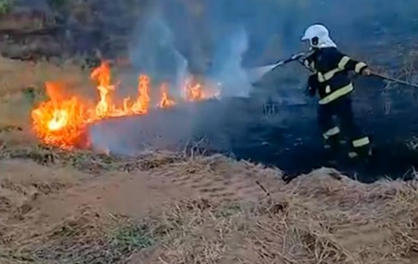
<svg viewBox="0 0 418 264"><path fill-rule="evenodd" d="M176 47L176 40L184 38L179 35L184 32L175 32L170 28L161 8L155 8L148 17L141 19L137 32L130 47L132 64L138 72L148 74L151 79L170 83L171 92L177 96L180 96L185 79L191 74L199 75L203 83L211 88L219 88L222 97L249 95L251 83L242 68L242 58L249 47L244 26L235 26L222 35L210 32L208 38L213 51L207 54L193 53L190 47L184 45L180 47L183 48L181 53ZM195 40L191 38L189 42L193 44ZM185 57L187 55L188 58ZM207 61L210 61L209 67L205 65Z"/></svg>

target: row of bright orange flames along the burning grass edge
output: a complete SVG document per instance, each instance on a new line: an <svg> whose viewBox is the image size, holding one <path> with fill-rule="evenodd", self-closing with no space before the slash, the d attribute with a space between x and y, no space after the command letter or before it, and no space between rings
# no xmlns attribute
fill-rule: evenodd
<svg viewBox="0 0 418 264"><path fill-rule="evenodd" d="M109 63L102 62L99 67L93 69L90 77L95 81L98 90L98 102L93 105L86 104L80 97L68 95L61 83L45 83L49 100L43 101L31 111L33 131L42 142L63 149L73 149L76 146L88 147L88 142L80 142L88 124L109 117L145 115L149 112L151 107L149 76L139 75L137 97L134 100L126 97L120 105L116 104L113 98L117 86L111 82ZM186 81L184 92L185 101L217 97L216 91L204 89L195 79ZM177 102L169 95L169 85L162 83L157 107L170 108L176 104Z"/></svg>

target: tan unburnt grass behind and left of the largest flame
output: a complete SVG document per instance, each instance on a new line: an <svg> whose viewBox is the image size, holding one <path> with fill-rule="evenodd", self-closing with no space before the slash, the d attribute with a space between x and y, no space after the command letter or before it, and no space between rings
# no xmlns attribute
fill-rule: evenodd
<svg viewBox="0 0 418 264"><path fill-rule="evenodd" d="M95 100L94 88L88 69L82 70L80 58L57 65L10 60L0 56L0 141L28 144L31 138L31 109L47 99L45 82L58 82L65 88L66 95ZM114 72L117 78L119 73ZM116 82L116 81L115 81Z"/></svg>

